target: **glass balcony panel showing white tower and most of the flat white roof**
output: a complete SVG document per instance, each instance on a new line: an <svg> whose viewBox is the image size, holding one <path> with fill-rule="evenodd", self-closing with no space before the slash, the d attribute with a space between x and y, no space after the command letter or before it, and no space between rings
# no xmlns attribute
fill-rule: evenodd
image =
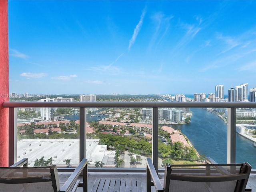
<svg viewBox="0 0 256 192"><path fill-rule="evenodd" d="M17 161L28 166L79 164L79 115L73 108L17 108Z"/></svg>

